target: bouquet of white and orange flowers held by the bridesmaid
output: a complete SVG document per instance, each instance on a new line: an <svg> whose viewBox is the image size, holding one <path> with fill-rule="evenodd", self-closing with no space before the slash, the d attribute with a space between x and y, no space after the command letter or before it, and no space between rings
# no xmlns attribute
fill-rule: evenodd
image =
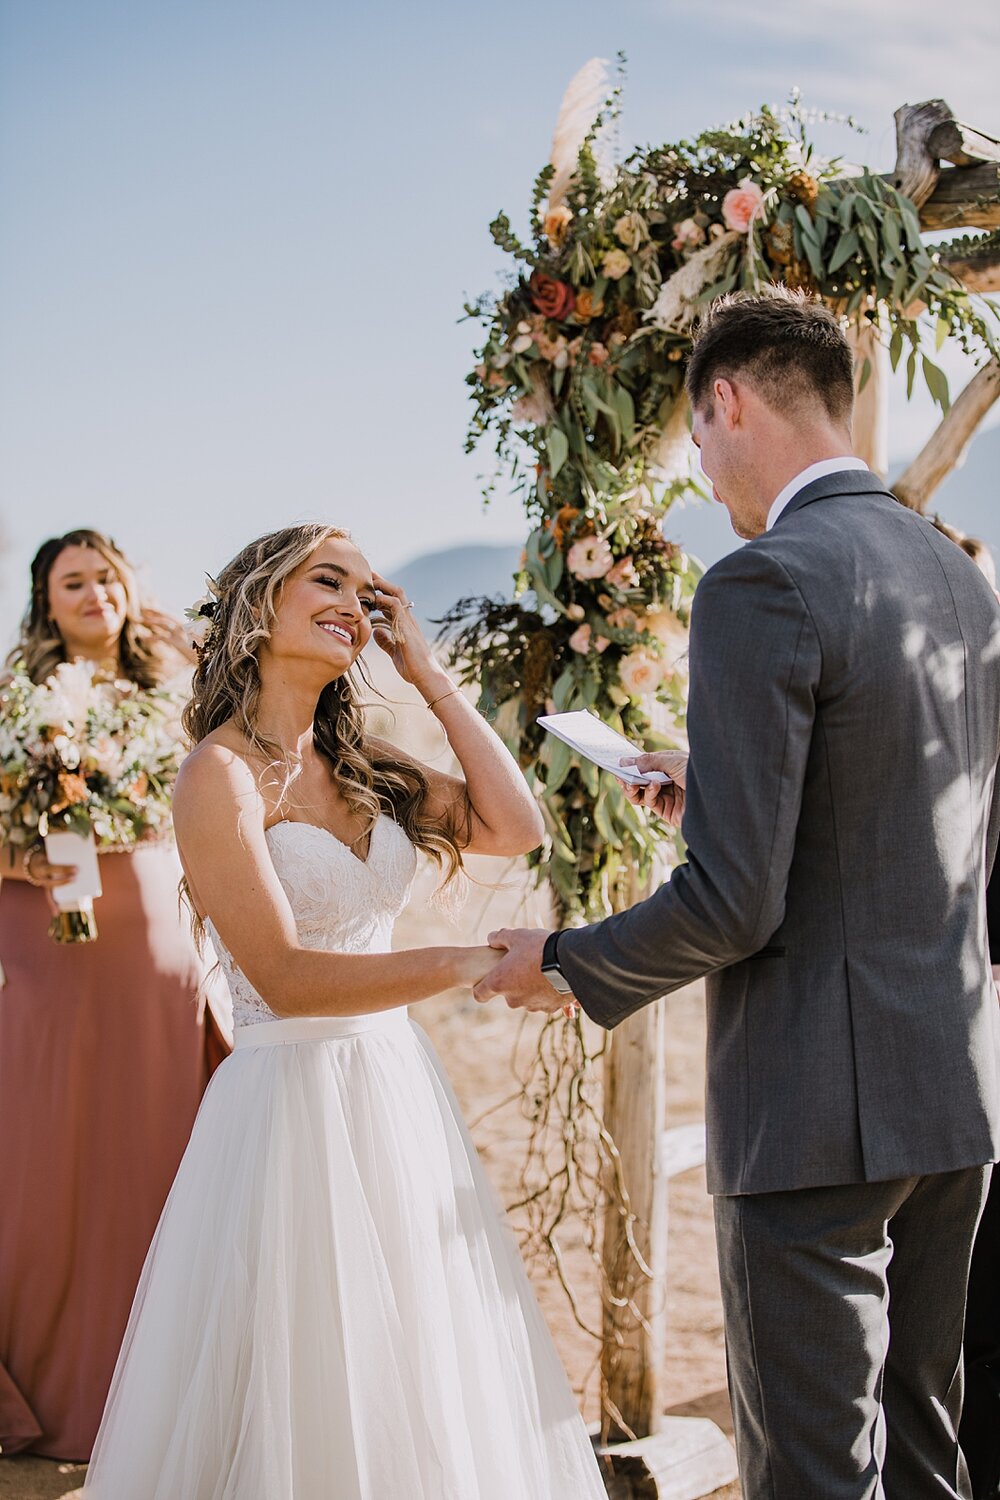
<svg viewBox="0 0 1000 1500"><path fill-rule="evenodd" d="M15 662L0 687L0 846L28 849L75 832L127 850L169 826L181 760L181 699L90 662L63 663L40 684ZM97 936L88 898L51 927L61 942Z"/></svg>

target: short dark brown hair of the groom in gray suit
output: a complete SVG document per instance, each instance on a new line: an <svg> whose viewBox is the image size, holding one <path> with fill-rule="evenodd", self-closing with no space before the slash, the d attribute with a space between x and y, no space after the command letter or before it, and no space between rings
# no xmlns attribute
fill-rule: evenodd
<svg viewBox="0 0 1000 1500"><path fill-rule="evenodd" d="M688 362L691 406L711 416L717 380L742 378L769 406L795 411L822 404L834 422L850 423L855 360L835 315L822 302L774 286L730 292L702 320Z"/></svg>

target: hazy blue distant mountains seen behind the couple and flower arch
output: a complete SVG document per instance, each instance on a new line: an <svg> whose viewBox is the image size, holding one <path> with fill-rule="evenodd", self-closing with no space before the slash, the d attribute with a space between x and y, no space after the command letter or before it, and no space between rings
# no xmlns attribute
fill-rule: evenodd
<svg viewBox="0 0 1000 1500"><path fill-rule="evenodd" d="M894 465L891 478L904 464ZM931 508L954 526L988 542L1000 566L1000 428L981 432L969 448L961 468L954 470L934 495ZM706 567L741 546L723 506L700 501L676 506L666 522L666 532L693 552ZM423 624L441 618L459 598L469 594L511 594L511 580L520 546L462 546L427 552L396 570L417 606Z"/></svg>

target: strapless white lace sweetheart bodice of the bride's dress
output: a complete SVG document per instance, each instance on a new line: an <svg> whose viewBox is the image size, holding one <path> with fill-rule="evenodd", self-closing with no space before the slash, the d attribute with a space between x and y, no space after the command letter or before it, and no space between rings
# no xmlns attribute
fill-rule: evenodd
<svg viewBox="0 0 1000 1500"><path fill-rule="evenodd" d="M417 870L417 852L391 818L382 814L372 828L367 860L313 824L274 824L267 846L303 948L388 952ZM234 1026L277 1020L210 921L205 927L229 982Z"/></svg>

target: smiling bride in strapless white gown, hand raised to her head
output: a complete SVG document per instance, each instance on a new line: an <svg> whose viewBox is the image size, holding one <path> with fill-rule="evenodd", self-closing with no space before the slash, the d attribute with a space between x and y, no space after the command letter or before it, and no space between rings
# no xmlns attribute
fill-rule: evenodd
<svg viewBox="0 0 1000 1500"><path fill-rule="evenodd" d="M375 633L465 780L364 732ZM541 837L517 766L343 531L222 572L175 828L232 990L84 1486L90 1500L600 1500L565 1374L406 1005L490 948L390 951L417 849Z"/></svg>

